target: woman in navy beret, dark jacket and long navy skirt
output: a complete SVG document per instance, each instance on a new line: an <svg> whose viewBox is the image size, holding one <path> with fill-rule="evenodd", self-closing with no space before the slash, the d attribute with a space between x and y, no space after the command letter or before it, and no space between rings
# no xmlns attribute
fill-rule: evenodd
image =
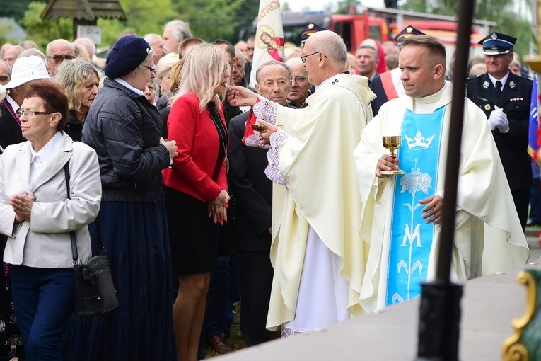
<svg viewBox="0 0 541 361"><path fill-rule="evenodd" d="M144 97L154 76L149 44L135 35L117 40L105 75L82 140L98 154L103 199L96 222L119 306L74 319L68 360L176 360L161 170L177 147L160 137L160 115Z"/></svg>

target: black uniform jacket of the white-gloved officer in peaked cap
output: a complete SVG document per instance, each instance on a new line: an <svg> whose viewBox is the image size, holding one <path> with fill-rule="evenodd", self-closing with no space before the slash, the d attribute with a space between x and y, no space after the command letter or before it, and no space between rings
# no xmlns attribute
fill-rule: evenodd
<svg viewBox="0 0 541 361"><path fill-rule="evenodd" d="M533 183L530 156L526 151L532 85L531 79L509 72L498 97L488 74L467 79L466 82L467 97L484 111L487 119L496 105L507 115L509 132L501 133L496 128L492 134L511 190L530 188Z"/></svg>

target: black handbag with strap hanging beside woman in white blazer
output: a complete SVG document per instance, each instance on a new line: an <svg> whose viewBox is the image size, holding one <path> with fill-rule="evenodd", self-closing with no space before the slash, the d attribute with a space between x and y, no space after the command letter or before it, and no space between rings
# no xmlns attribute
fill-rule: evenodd
<svg viewBox="0 0 541 361"><path fill-rule="evenodd" d="M66 174L66 188L69 198L69 164L67 163L64 165L64 173ZM103 247L97 218L95 226L98 234L99 254L89 259L85 264L81 263L78 258L75 232L69 232L75 275L74 313L79 317L98 316L118 306L117 291L112 282L109 262L105 257L105 247Z"/></svg>

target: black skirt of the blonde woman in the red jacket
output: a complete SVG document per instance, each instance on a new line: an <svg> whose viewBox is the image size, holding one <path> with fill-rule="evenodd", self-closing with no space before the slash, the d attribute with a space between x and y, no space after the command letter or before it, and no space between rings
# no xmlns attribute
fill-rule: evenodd
<svg viewBox="0 0 541 361"><path fill-rule="evenodd" d="M218 265L218 226L208 206L191 195L164 187L171 261L175 275L196 275Z"/></svg>

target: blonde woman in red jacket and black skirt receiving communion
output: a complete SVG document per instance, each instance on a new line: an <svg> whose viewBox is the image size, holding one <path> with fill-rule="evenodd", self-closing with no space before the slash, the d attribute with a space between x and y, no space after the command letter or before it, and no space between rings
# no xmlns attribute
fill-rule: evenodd
<svg viewBox="0 0 541 361"><path fill-rule="evenodd" d="M168 137L178 156L163 171L171 260L178 276L173 321L179 360L197 360L211 270L218 263L216 224L227 221L228 136L219 94L231 76L226 52L192 47L172 98Z"/></svg>

